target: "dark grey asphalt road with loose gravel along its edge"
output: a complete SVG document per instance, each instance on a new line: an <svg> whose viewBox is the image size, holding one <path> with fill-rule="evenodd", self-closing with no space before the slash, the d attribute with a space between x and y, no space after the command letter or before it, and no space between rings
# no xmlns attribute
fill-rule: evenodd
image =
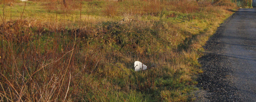
<svg viewBox="0 0 256 102"><path fill-rule="evenodd" d="M256 9L239 9L204 48L196 101L256 102Z"/></svg>

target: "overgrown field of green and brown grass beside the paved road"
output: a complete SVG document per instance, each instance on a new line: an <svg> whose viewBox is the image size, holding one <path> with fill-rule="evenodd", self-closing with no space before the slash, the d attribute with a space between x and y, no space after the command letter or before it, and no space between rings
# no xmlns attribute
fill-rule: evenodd
<svg viewBox="0 0 256 102"><path fill-rule="evenodd" d="M193 101L201 46L236 10L228 1L28 1L22 13L25 2L12 2L3 15L1 1L1 101ZM152 67L135 72L134 61Z"/></svg>

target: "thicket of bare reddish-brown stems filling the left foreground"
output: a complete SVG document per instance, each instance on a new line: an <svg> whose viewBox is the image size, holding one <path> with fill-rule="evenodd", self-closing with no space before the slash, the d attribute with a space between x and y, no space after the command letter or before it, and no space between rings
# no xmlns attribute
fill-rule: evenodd
<svg viewBox="0 0 256 102"><path fill-rule="evenodd" d="M36 23L23 20L1 25L0 91L2 101L50 101L59 97L64 99L67 92L66 86L69 86L69 77L64 78L63 75L65 69L69 68L67 66L74 60L69 63L68 60L61 59L69 59L70 55L65 55L70 52L59 53L58 41L49 39L43 43L40 40L35 40L40 39L41 33L44 31L37 30L34 28L35 26ZM39 32L34 33L32 30ZM55 46L48 42L55 43ZM67 46L67 48L63 48L63 51L68 52L67 50L72 47ZM61 61L64 63L59 63ZM60 73L55 73L55 71ZM65 74L67 76L75 75L73 72L71 75ZM65 81L63 82L63 80Z"/></svg>

